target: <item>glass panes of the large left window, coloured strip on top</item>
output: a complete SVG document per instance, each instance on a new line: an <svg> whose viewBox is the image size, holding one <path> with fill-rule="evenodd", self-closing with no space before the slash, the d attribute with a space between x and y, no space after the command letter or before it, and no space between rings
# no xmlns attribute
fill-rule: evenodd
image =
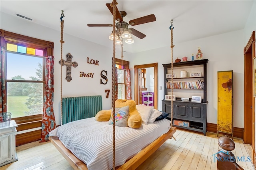
<svg viewBox="0 0 256 170"><path fill-rule="evenodd" d="M7 110L12 118L42 114L44 96L44 49L7 43Z"/></svg>

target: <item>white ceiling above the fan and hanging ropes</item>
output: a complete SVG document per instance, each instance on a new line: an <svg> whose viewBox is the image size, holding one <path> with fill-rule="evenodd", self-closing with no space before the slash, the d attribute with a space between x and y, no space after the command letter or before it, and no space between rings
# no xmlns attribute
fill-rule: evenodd
<svg viewBox="0 0 256 170"><path fill-rule="evenodd" d="M112 0L1 0L0 10L15 16L32 18L31 22L60 31L64 10L64 33L112 48L108 39L112 27L88 27L87 24L113 24L106 3ZM173 19L174 44L243 29L253 0L117 0L118 10L126 11L124 21L149 14L155 22L129 26L146 37L133 36L134 44L124 43L126 52L141 52L170 46L170 21ZM17 16L18 17L18 16ZM24 20L23 18L20 18ZM28 21L30 22L30 21Z"/></svg>

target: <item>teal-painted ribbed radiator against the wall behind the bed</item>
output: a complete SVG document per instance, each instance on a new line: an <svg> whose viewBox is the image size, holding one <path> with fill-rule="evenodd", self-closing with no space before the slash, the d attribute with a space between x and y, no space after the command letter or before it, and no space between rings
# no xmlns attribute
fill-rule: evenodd
<svg viewBox="0 0 256 170"><path fill-rule="evenodd" d="M102 110L102 96L62 98L62 124L94 117Z"/></svg>

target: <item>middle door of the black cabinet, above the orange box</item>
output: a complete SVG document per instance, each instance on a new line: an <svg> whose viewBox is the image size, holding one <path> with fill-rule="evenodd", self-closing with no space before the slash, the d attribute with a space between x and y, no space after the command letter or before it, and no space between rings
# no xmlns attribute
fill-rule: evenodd
<svg viewBox="0 0 256 170"><path fill-rule="evenodd" d="M174 118L188 120L188 104L175 102L174 113Z"/></svg>

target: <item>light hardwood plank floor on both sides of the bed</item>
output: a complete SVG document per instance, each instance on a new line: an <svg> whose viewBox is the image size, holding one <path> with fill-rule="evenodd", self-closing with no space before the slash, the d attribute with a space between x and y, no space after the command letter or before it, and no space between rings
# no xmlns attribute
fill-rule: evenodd
<svg viewBox="0 0 256 170"><path fill-rule="evenodd" d="M177 130L136 170L216 170L213 154L218 152L218 138L214 133L202 134ZM237 157L250 156L250 145L234 138L232 153ZM2 166L1 170L73 170L50 142L33 142L16 147L18 161ZM244 170L254 170L252 162L236 162Z"/></svg>

